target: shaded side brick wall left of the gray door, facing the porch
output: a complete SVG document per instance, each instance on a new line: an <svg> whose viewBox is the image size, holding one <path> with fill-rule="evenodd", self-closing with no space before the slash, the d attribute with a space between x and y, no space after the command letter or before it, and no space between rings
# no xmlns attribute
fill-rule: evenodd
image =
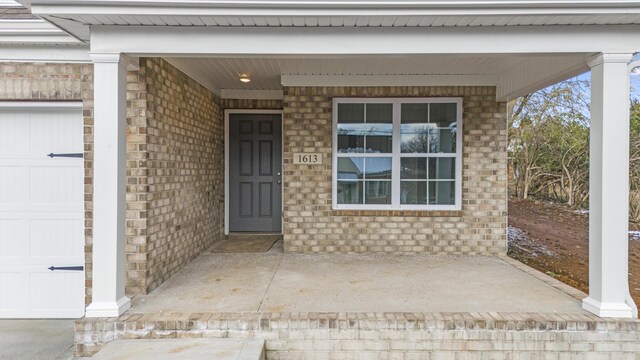
<svg viewBox="0 0 640 360"><path fill-rule="evenodd" d="M141 61L151 291L224 235L224 119L211 91L165 60Z"/></svg>

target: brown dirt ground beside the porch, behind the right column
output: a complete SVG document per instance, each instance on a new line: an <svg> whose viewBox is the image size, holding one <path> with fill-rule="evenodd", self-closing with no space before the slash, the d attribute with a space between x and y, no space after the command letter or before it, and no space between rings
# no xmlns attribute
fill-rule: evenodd
<svg viewBox="0 0 640 360"><path fill-rule="evenodd" d="M629 287L640 304L640 233L629 232ZM549 202L509 199L509 256L584 292L589 289L589 214Z"/></svg>

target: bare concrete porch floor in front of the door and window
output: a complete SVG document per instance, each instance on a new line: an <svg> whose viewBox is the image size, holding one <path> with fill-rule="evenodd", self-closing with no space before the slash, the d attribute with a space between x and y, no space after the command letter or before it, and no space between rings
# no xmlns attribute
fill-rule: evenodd
<svg viewBox="0 0 640 360"><path fill-rule="evenodd" d="M207 251L127 314L194 312L588 313L584 293L515 260Z"/></svg>

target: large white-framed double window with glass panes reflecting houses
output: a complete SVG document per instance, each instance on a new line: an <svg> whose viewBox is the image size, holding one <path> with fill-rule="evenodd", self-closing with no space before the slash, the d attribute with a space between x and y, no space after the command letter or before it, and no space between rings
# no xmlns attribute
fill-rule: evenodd
<svg viewBox="0 0 640 360"><path fill-rule="evenodd" d="M335 98L333 207L458 210L460 98Z"/></svg>

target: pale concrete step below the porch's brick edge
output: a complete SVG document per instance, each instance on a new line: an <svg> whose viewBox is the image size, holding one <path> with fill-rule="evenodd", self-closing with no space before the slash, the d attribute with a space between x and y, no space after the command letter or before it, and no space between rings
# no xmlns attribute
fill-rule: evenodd
<svg viewBox="0 0 640 360"><path fill-rule="evenodd" d="M114 340L95 360L264 360L264 339L181 338Z"/></svg>

